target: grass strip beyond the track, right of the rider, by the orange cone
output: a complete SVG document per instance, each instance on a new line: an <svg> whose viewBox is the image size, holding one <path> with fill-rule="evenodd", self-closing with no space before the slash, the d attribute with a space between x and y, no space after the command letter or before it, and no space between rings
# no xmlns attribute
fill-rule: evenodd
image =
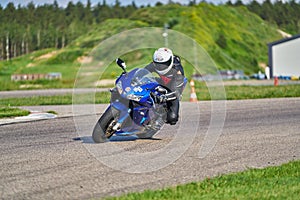
<svg viewBox="0 0 300 200"><path fill-rule="evenodd" d="M279 85L279 86L225 86L227 100L240 99L261 99L261 98L284 98L300 97L300 85ZM214 100L224 99L221 87L211 87L210 91L217 94ZM212 97L205 83L196 82L196 94L198 100L211 100Z"/></svg>

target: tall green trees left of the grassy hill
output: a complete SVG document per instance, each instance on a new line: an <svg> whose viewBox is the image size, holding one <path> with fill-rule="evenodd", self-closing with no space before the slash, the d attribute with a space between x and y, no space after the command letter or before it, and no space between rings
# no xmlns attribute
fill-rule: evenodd
<svg viewBox="0 0 300 200"><path fill-rule="evenodd" d="M80 35L108 18L128 18L138 7L121 6L116 0L105 0L95 6L87 0L69 2L65 8L53 4L36 6L33 2L17 7L8 3L0 6L0 60L10 59L35 50L64 48Z"/></svg>

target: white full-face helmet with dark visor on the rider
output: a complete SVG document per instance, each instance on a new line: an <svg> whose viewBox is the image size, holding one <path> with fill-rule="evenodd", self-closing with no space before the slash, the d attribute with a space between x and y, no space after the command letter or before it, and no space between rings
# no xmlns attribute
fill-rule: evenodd
<svg viewBox="0 0 300 200"><path fill-rule="evenodd" d="M153 54L155 70L160 75L165 75L173 66L173 52L168 48L159 48Z"/></svg>

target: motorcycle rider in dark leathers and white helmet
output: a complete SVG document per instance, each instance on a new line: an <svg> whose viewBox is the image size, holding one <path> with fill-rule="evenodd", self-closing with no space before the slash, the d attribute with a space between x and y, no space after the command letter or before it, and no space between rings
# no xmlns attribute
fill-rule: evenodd
<svg viewBox="0 0 300 200"><path fill-rule="evenodd" d="M179 101L185 87L184 70L180 58L169 48L159 48L153 54L153 61L145 69L160 76L159 83L167 87L170 92L160 96L156 101L167 103L167 121L175 125L178 121Z"/></svg>

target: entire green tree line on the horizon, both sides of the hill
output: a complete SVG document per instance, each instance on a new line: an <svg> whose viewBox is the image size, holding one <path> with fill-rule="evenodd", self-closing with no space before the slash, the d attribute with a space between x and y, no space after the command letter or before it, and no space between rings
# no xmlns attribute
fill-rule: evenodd
<svg viewBox="0 0 300 200"><path fill-rule="evenodd" d="M174 2L170 0L168 4ZM295 0L289 2L277 0L274 3L270 0L263 3L253 0L248 4L238 0L234 3L228 1L225 4L246 6L251 12L285 31L294 34L300 32L300 3ZM162 5L158 2L155 6ZM184 6L195 5L197 1L191 0ZM104 20L129 18L132 13L143 7L136 6L134 1L130 5L122 6L119 0L113 5L108 5L103 0L94 6L90 0L85 4L70 1L65 8L60 7L56 0L52 4L38 6L33 2L26 6L8 3L5 8L0 6L0 60L9 60L45 48L64 48Z"/></svg>

